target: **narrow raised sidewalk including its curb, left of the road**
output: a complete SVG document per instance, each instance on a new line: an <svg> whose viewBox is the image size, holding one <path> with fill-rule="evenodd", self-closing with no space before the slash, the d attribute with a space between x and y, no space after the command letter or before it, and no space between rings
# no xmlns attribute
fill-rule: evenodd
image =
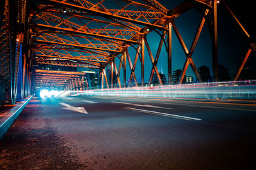
<svg viewBox="0 0 256 170"><path fill-rule="evenodd" d="M29 96L27 99L19 101L13 105L0 107L0 138L12 126L13 122L19 117L21 111L29 103L32 97L33 96Z"/></svg>

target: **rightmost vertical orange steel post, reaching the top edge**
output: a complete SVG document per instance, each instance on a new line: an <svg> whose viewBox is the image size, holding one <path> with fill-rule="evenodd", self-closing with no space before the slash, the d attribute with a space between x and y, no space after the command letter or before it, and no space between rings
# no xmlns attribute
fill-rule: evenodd
<svg viewBox="0 0 256 170"><path fill-rule="evenodd" d="M217 1L212 1L212 77L218 81L218 32L217 32Z"/></svg>

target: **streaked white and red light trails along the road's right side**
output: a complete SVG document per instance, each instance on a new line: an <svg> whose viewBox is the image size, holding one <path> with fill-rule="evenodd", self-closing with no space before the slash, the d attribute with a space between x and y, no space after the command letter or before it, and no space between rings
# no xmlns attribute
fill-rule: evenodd
<svg viewBox="0 0 256 170"><path fill-rule="evenodd" d="M131 87L122 89L97 89L70 92L74 96L138 96L197 99L256 99L255 81L227 81L218 83L191 83L156 87Z"/></svg>

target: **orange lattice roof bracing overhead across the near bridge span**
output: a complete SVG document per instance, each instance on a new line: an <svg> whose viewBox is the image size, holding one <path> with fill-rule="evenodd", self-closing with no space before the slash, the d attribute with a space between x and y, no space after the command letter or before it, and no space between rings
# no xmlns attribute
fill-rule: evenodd
<svg viewBox="0 0 256 170"><path fill-rule="evenodd" d="M95 4L85 0L33 1L37 11L31 13L30 27L36 57L51 57L50 53L54 53L56 58L108 62L110 53L116 56L124 51L123 43L140 44L142 27L166 29L163 17L167 10L156 1L118 0L122 3L113 1L114 9L110 1ZM52 51L43 52L39 48ZM71 57L77 49L90 55ZM100 51L106 52L105 55L98 55ZM63 66L60 62L51 64Z"/></svg>

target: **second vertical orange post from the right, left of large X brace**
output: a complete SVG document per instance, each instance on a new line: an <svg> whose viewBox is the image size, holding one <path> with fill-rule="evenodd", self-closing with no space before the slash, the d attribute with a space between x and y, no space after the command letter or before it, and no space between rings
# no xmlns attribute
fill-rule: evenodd
<svg viewBox="0 0 256 170"><path fill-rule="evenodd" d="M167 68L168 68L168 84L172 84L172 22L171 19L168 20L168 59L167 59Z"/></svg>

